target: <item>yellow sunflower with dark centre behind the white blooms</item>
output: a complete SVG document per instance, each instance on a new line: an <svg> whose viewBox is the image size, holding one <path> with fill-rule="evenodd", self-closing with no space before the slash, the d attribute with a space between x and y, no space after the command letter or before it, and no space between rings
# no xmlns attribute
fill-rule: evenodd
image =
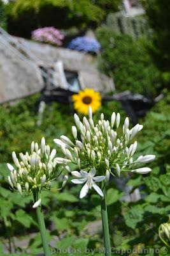
<svg viewBox="0 0 170 256"><path fill-rule="evenodd" d="M95 113L101 106L101 95L94 89L85 89L72 96L74 109L81 114L87 115L88 108L91 106L92 112Z"/></svg>

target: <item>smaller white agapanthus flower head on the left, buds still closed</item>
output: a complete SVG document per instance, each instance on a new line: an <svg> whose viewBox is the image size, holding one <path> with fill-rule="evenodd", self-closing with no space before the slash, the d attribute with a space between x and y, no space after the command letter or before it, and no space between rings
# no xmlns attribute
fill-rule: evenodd
<svg viewBox="0 0 170 256"><path fill-rule="evenodd" d="M50 146L45 144L45 138L42 138L40 148L38 143L32 141L31 154L28 152L25 155L20 153L20 159L17 158L15 152L12 152L16 167L7 164L10 170L8 181L11 188L18 190L21 195L23 191L30 193L35 189L50 189L53 171L57 164L54 161L55 155L56 150L50 150Z"/></svg>

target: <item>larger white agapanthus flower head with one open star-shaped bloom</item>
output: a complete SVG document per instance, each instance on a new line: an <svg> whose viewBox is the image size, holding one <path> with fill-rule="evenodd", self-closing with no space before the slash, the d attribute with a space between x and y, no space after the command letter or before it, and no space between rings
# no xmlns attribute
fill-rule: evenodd
<svg viewBox="0 0 170 256"><path fill-rule="evenodd" d="M74 163L80 168L79 172L72 172L78 179L73 179L76 184L85 183L81 189L80 197L87 195L91 188L96 189L99 195L103 195L96 182L105 180L108 182L110 174L120 177L121 172L135 172L145 174L151 171L148 167L139 168L139 164L145 164L155 159L154 155L139 156L134 160L137 141L134 136L141 131L143 125L135 125L129 129L129 118L125 118L122 132L118 136L120 126L120 114L113 112L111 120L104 120L103 113L99 122L95 125L92 119L92 108L89 108L89 120L84 116L83 122L74 114L76 126L72 127L74 141L62 135L55 139L55 143L61 148L64 158L57 157L55 161L62 164L63 168L70 171L68 163ZM78 136L80 132L80 136ZM97 172L97 177L95 174Z"/></svg>

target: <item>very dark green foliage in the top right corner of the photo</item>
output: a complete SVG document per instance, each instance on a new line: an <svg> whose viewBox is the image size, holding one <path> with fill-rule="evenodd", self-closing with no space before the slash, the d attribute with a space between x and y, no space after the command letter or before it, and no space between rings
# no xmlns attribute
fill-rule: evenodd
<svg viewBox="0 0 170 256"><path fill-rule="evenodd" d="M170 71L170 2L167 0L142 0L146 17L153 30L149 45L155 63L164 72Z"/></svg>

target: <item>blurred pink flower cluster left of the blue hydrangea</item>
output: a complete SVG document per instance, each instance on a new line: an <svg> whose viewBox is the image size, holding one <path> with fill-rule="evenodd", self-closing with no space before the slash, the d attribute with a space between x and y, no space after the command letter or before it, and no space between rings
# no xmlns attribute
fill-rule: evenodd
<svg viewBox="0 0 170 256"><path fill-rule="evenodd" d="M55 45L62 45L64 35L56 28L45 27L32 31L31 38L36 41L46 42Z"/></svg>

